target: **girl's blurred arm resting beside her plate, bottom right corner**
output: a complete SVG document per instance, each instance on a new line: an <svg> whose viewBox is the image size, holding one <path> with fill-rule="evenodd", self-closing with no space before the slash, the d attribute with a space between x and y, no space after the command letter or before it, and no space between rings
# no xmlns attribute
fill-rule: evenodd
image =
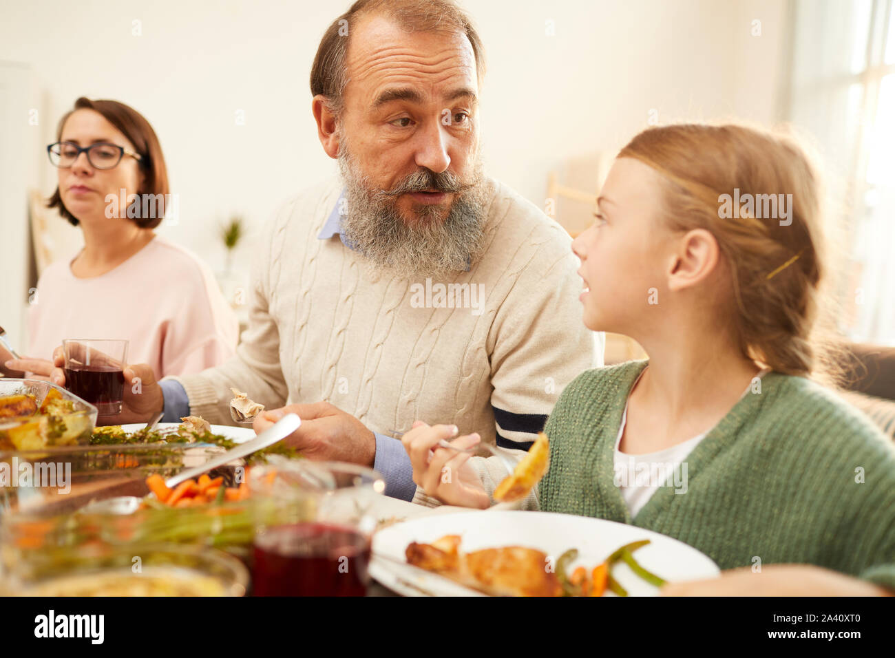
<svg viewBox="0 0 895 658"><path fill-rule="evenodd" d="M771 564L722 571L717 578L670 583L661 596L891 596L879 585L810 564Z"/></svg>

